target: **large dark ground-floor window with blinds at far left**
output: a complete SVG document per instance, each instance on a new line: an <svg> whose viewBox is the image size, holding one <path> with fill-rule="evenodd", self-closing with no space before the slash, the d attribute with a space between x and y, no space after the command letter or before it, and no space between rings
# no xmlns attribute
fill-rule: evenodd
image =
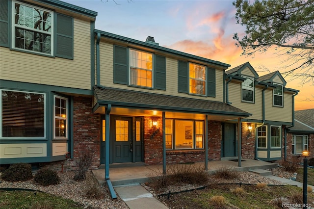
<svg viewBox="0 0 314 209"><path fill-rule="evenodd" d="M45 98L35 92L1 90L1 137L44 138Z"/></svg>

